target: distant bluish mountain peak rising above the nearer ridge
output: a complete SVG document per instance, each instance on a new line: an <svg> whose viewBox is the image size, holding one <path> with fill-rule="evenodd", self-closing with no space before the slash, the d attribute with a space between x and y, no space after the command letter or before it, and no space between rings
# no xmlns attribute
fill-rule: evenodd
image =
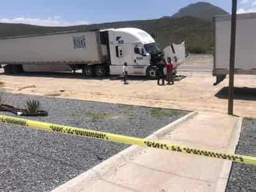
<svg viewBox="0 0 256 192"><path fill-rule="evenodd" d="M224 11L220 7L214 6L213 4L210 4L208 2L197 2L180 9L180 11L178 11L172 17L180 18L185 16L191 16L204 20L212 20L213 16L226 14L229 13L227 11Z"/></svg>

